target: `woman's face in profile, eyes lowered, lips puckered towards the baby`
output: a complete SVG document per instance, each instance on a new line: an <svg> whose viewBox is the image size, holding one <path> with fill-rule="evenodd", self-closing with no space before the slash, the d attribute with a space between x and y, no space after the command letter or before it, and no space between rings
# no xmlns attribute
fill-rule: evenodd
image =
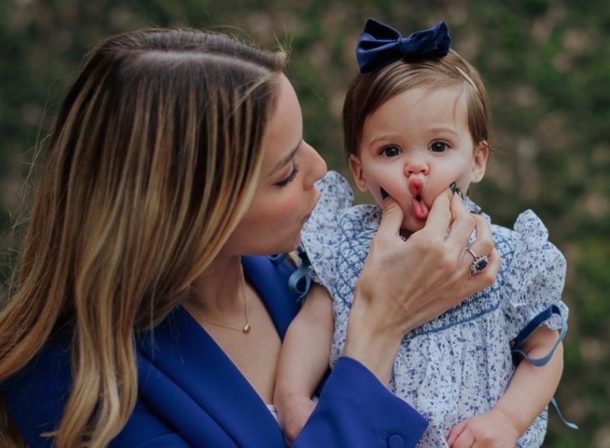
<svg viewBox="0 0 610 448"><path fill-rule="evenodd" d="M293 251L318 200L314 182L326 163L303 140L303 117L288 78L263 139L263 166L254 198L220 255L268 255Z"/></svg>

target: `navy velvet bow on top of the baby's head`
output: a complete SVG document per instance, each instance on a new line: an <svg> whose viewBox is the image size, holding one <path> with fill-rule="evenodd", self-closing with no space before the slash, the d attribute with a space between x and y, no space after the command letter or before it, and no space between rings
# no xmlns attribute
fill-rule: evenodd
<svg viewBox="0 0 610 448"><path fill-rule="evenodd" d="M416 31L403 38L392 27L367 20L364 31L356 43L356 59L360 73L379 70L398 59L415 61L429 57L444 57L449 53L451 37L445 22Z"/></svg>

